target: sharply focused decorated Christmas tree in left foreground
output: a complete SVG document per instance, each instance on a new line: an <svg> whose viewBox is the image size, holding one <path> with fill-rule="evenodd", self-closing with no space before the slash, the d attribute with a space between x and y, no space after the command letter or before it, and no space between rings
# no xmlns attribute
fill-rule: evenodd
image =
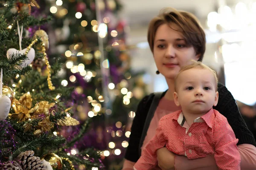
<svg viewBox="0 0 256 170"><path fill-rule="evenodd" d="M73 149L91 121L72 117L77 92L58 77L61 59L47 55L41 26L51 17L35 17L38 8L35 0L0 4L0 169L102 169L98 150ZM68 140L62 129L72 126L79 132Z"/></svg>

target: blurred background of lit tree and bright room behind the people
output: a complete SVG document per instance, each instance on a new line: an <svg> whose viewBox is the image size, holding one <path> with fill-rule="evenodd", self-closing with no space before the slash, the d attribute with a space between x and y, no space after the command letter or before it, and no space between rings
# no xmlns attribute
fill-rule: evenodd
<svg viewBox="0 0 256 170"><path fill-rule="evenodd" d="M81 144L67 154L95 147L106 169L122 168L138 102L167 89L155 74L146 37L149 21L163 7L192 12L201 21L207 34L203 62L218 72L256 135L256 0L37 1L41 8L33 14L53 17L41 29L49 35L49 57L65 63L61 85L76 87L74 116L93 119Z"/></svg>

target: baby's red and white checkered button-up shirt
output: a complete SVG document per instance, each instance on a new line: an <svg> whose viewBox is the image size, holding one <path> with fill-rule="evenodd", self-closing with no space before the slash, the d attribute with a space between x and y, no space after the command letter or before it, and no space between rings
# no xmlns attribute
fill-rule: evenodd
<svg viewBox="0 0 256 170"><path fill-rule="evenodd" d="M163 116L155 136L148 142L134 170L150 170L157 165L157 150L166 146L171 152L198 159L214 154L219 170L240 170L238 139L218 111L211 109L189 127L182 111Z"/></svg>

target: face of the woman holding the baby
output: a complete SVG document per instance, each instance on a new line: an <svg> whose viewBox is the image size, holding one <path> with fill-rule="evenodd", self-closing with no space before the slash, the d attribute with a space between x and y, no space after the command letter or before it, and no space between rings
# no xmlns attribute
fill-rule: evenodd
<svg viewBox="0 0 256 170"><path fill-rule="evenodd" d="M170 28L170 26L173 28ZM166 79L174 79L183 65L189 64L189 60L199 59L193 46L187 45L183 35L175 24L163 24L158 27L154 39L154 60L158 71Z"/></svg>

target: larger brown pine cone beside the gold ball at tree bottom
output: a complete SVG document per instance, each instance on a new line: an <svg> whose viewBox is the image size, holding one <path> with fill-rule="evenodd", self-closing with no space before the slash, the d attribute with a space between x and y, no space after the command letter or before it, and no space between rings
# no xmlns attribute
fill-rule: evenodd
<svg viewBox="0 0 256 170"><path fill-rule="evenodd" d="M38 156L34 156L33 150L27 150L20 153L17 157L21 163L23 170L47 170L47 166L44 166L43 161Z"/></svg>

